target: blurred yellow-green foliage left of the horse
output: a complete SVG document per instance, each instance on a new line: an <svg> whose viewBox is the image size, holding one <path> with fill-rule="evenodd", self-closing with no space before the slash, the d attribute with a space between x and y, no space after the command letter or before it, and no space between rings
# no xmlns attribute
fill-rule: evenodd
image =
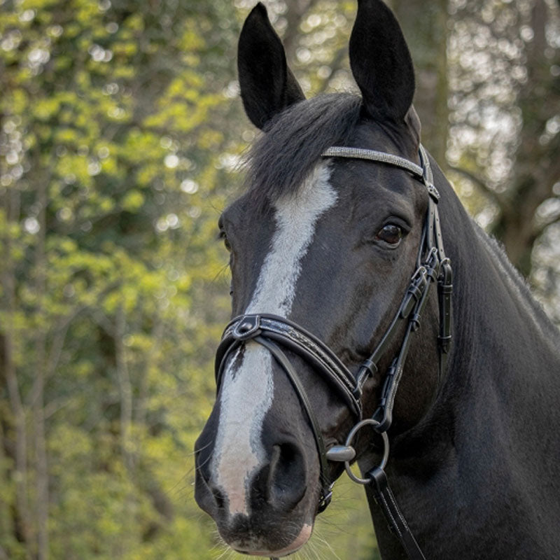
<svg viewBox="0 0 560 560"><path fill-rule="evenodd" d="M253 135L232 102L245 12L0 9L0 557L213 559L193 447L230 307L216 221ZM326 538L339 556L370 556L359 517L358 540Z"/></svg>

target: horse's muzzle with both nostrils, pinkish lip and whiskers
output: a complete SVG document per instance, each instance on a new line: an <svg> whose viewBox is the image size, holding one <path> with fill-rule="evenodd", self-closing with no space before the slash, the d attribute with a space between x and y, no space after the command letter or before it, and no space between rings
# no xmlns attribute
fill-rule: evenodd
<svg viewBox="0 0 560 560"><path fill-rule="evenodd" d="M307 542L318 484L308 484L304 450L293 438L274 442L264 464L254 468L243 484L239 464L230 466L231 473L222 469L218 482L204 431L195 453L195 499L232 549L253 556L286 556Z"/></svg>

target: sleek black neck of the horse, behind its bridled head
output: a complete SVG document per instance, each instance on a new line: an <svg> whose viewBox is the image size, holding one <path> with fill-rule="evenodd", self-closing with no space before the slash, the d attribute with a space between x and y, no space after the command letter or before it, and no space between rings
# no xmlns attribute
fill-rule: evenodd
<svg viewBox="0 0 560 560"><path fill-rule="evenodd" d="M453 347L425 418L391 441L388 478L428 558L486 557L494 545L500 552L493 557L535 557L530 539L519 552L519 542L496 543L487 527L526 535L541 517L560 514L557 493L543 491L560 478L560 335L439 169L435 179L454 269ZM404 557L368 499L383 557ZM463 508L458 533L457 503ZM446 513L426 514L435 511Z"/></svg>

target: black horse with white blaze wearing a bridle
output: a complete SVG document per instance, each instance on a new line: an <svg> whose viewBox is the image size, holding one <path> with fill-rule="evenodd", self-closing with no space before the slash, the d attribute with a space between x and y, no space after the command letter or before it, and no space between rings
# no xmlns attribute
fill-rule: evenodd
<svg viewBox="0 0 560 560"><path fill-rule="evenodd" d="M384 559L559 559L559 332L421 148L380 0L349 54L361 95L305 100L264 6L241 31L264 134L219 223L235 319L197 502L232 548L284 556L356 454Z"/></svg>

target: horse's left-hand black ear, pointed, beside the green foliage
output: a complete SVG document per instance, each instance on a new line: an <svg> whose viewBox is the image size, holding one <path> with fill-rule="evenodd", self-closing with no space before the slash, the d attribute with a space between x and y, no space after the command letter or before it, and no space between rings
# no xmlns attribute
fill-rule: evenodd
<svg viewBox="0 0 560 560"><path fill-rule="evenodd" d="M247 16L237 48L241 99L253 125L264 127L276 113L305 99L286 63L286 52L258 3Z"/></svg>

